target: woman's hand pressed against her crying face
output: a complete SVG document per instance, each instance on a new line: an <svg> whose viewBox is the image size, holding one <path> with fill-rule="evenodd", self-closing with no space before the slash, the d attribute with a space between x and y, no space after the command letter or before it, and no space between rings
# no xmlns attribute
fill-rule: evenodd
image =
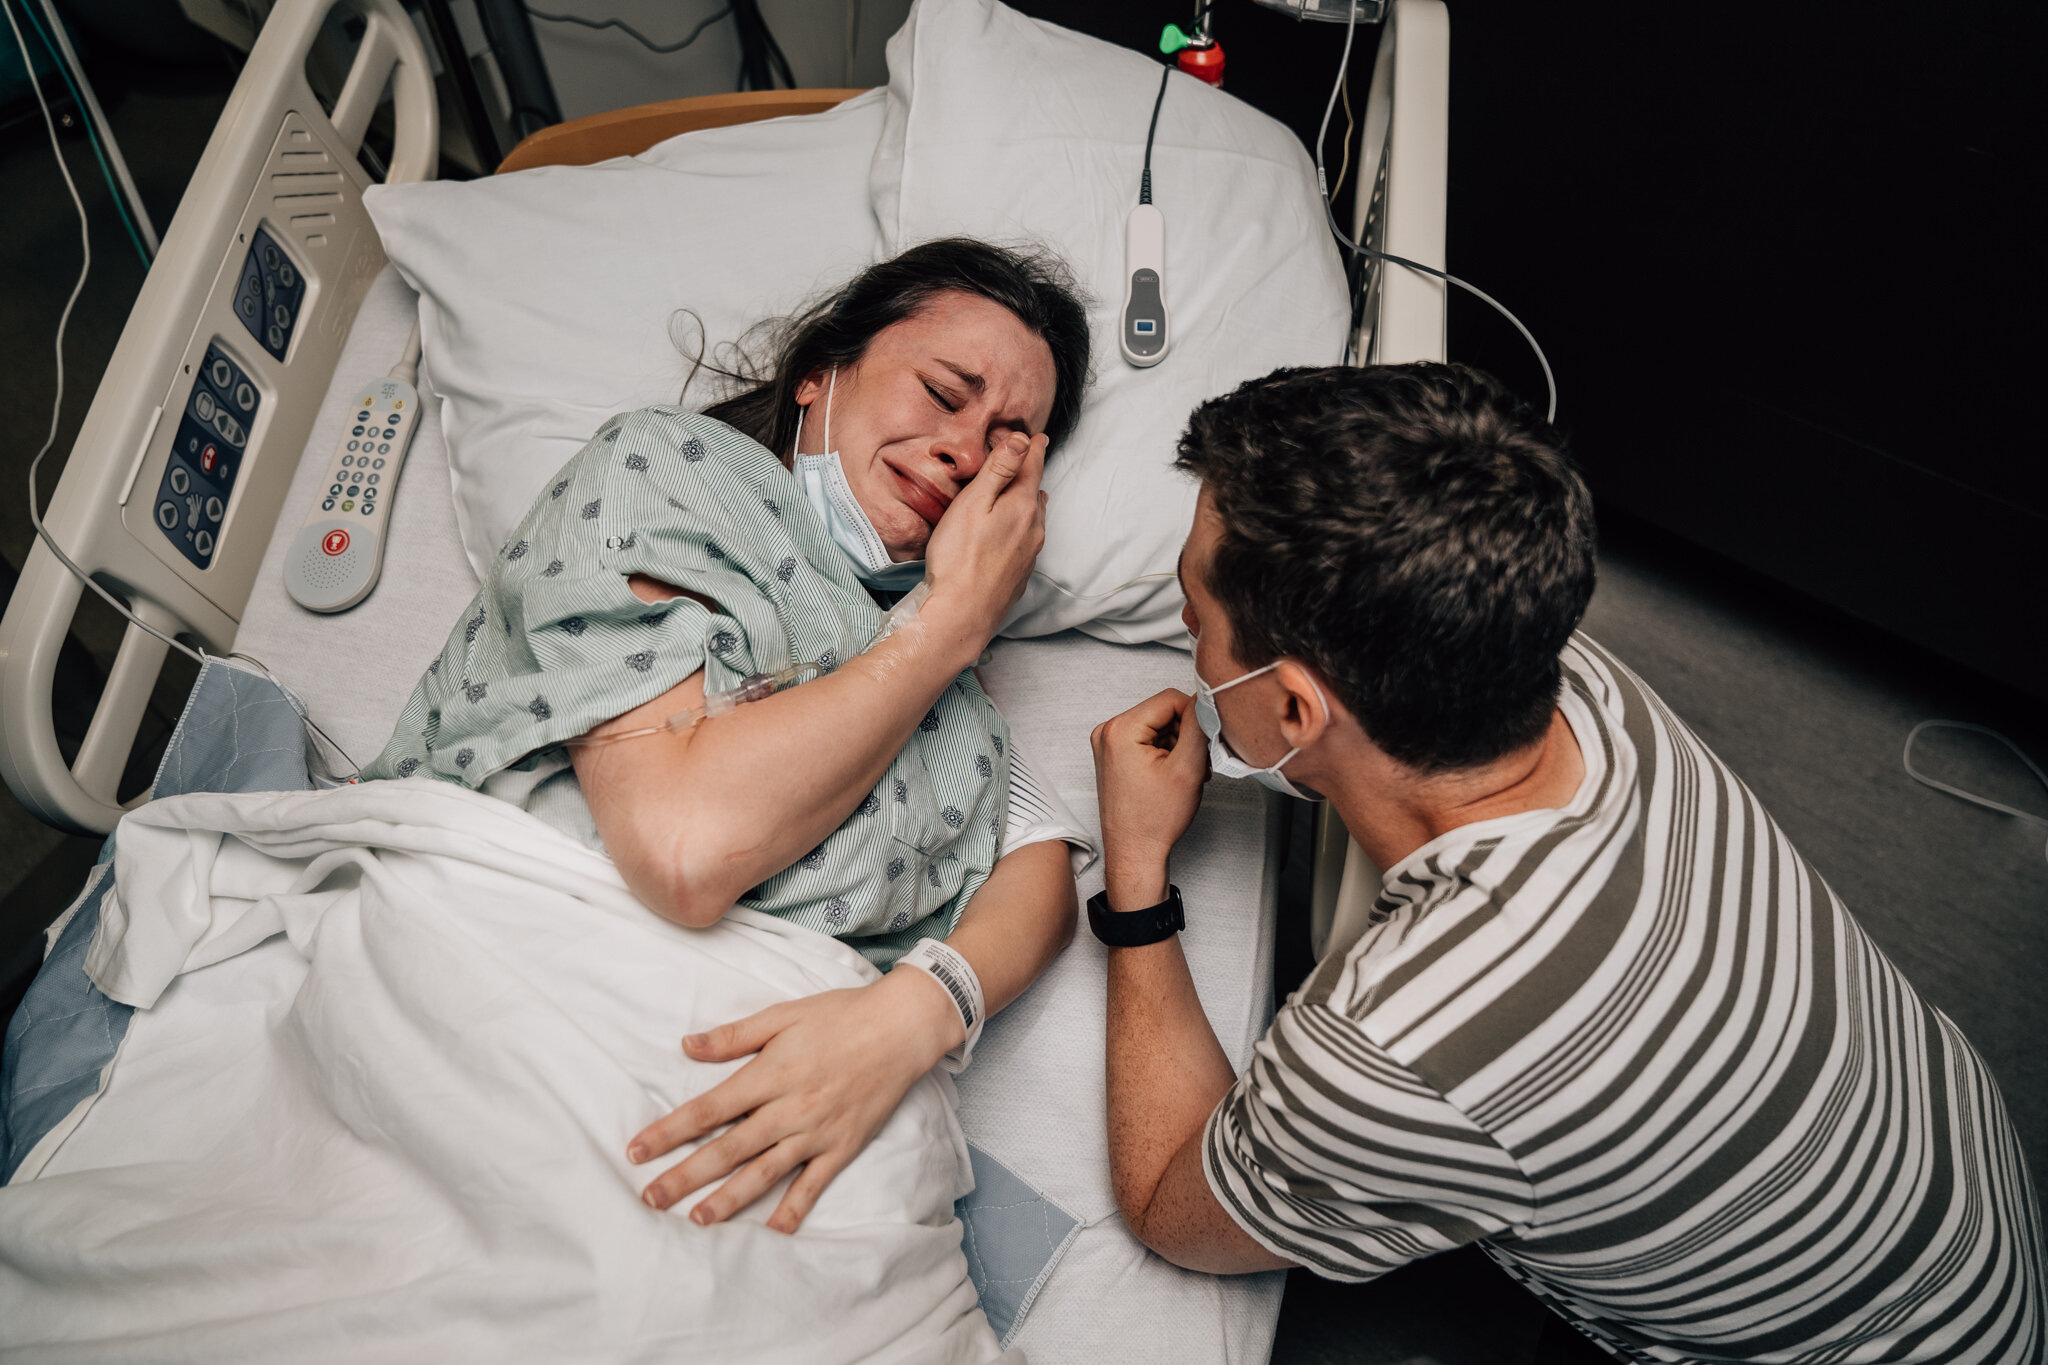
<svg viewBox="0 0 2048 1365"><path fill-rule="evenodd" d="M979 636L977 655L1024 596L1044 548L1044 493L1038 491L1044 446L1044 436L1026 440L1012 432L946 508L924 553L932 581L924 612L936 608L938 618Z"/></svg>

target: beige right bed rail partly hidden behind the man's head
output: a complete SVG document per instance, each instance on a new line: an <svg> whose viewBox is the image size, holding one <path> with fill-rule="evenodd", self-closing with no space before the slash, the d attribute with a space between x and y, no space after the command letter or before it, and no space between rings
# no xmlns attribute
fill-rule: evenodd
<svg viewBox="0 0 2048 1365"><path fill-rule="evenodd" d="M1444 270L1450 168L1450 12L1395 0L1372 63L1352 239ZM1444 280L1368 262L1358 354L1366 364L1446 358ZM1317 814L1309 941L1321 958L1366 927L1380 874L1329 806Z"/></svg>

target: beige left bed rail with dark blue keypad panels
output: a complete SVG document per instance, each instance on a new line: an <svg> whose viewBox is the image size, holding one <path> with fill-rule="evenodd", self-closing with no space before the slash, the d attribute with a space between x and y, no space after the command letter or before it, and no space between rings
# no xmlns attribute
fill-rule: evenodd
<svg viewBox="0 0 2048 1365"><path fill-rule="evenodd" d="M362 27L332 113L305 61L324 29L334 41L336 0L281 0L264 20L45 514L63 553L135 616L211 651L233 647L356 305L385 262L356 151L387 88L385 178L434 174L434 78L418 31L397 0L342 4ZM82 591L37 540L0 620L0 776L49 825L100 833L121 819L117 784L168 647L129 624L66 763L51 684Z"/></svg>

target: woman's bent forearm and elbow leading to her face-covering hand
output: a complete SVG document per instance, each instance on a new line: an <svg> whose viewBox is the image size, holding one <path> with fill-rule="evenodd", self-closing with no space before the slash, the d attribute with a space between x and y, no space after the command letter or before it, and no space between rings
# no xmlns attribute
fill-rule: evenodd
<svg viewBox="0 0 2048 1365"><path fill-rule="evenodd" d="M680 735L571 749L606 851L657 913L717 921L852 814L983 643L928 604L911 626L801 688ZM700 673L592 737L662 724L698 700Z"/></svg>

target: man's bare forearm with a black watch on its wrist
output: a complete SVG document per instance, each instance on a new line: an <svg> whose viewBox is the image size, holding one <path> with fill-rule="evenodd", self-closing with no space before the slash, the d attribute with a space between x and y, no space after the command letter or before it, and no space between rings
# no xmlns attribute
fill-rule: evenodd
<svg viewBox="0 0 2048 1365"><path fill-rule="evenodd" d="M1106 870L1110 909L1165 900L1165 868ZM1110 1183L1124 1222L1141 1232L1159 1177L1208 1121L1235 1074L1217 1044L1180 935L1110 950L1108 1001Z"/></svg>

